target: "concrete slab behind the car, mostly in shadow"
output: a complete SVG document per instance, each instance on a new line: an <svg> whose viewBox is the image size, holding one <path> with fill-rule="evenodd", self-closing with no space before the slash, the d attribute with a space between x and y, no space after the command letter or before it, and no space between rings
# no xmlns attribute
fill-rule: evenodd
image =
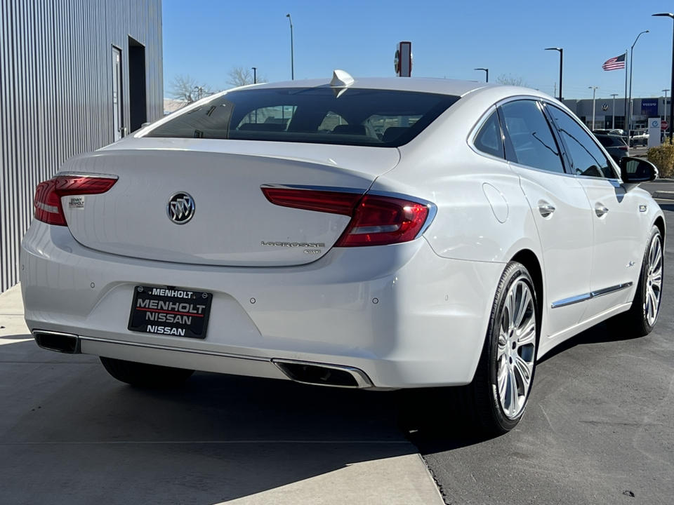
<svg viewBox="0 0 674 505"><path fill-rule="evenodd" d="M0 503L444 503L386 393L196 373L176 391L39 349L0 295Z"/></svg>

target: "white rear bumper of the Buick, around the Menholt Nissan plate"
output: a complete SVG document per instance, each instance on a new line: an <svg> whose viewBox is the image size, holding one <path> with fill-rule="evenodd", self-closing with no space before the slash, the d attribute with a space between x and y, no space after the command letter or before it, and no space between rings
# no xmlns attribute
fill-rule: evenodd
<svg viewBox="0 0 674 505"><path fill-rule="evenodd" d="M438 257L423 238L302 267L203 267L98 253L33 222L21 282L28 327L77 335L85 354L279 379L272 360L326 363L402 388L473 379L503 267ZM129 331L136 285L212 292L206 339Z"/></svg>

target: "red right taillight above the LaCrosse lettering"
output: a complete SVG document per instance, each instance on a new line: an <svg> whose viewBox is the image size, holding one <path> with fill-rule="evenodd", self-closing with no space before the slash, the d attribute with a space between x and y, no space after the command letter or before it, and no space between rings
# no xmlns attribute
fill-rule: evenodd
<svg viewBox="0 0 674 505"><path fill-rule="evenodd" d="M351 216L336 247L385 245L414 240L428 219L423 203L343 191L262 187L267 200L278 206Z"/></svg>

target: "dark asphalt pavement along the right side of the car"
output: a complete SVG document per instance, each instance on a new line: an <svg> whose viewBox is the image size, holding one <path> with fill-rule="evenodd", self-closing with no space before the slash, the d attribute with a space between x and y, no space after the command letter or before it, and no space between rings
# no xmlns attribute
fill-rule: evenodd
<svg viewBox="0 0 674 505"><path fill-rule="evenodd" d="M674 201L659 203L671 232ZM602 323L555 349L515 430L411 433L447 504L674 503L673 262L668 238L654 331L631 339Z"/></svg>

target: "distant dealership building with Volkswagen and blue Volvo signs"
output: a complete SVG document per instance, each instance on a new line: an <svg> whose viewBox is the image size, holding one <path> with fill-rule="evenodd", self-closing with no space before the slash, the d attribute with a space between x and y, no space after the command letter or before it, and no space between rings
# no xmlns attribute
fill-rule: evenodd
<svg viewBox="0 0 674 505"><path fill-rule="evenodd" d="M600 130L604 128L625 129L625 97L597 97L595 100L564 100L564 105L579 116L588 128ZM592 127L593 102L595 107L595 126ZM659 117L669 121L670 97L651 97L632 99L632 129L647 128L647 119ZM629 109L628 109L629 110ZM615 114L615 126L614 124ZM671 121L669 121L671 123Z"/></svg>

